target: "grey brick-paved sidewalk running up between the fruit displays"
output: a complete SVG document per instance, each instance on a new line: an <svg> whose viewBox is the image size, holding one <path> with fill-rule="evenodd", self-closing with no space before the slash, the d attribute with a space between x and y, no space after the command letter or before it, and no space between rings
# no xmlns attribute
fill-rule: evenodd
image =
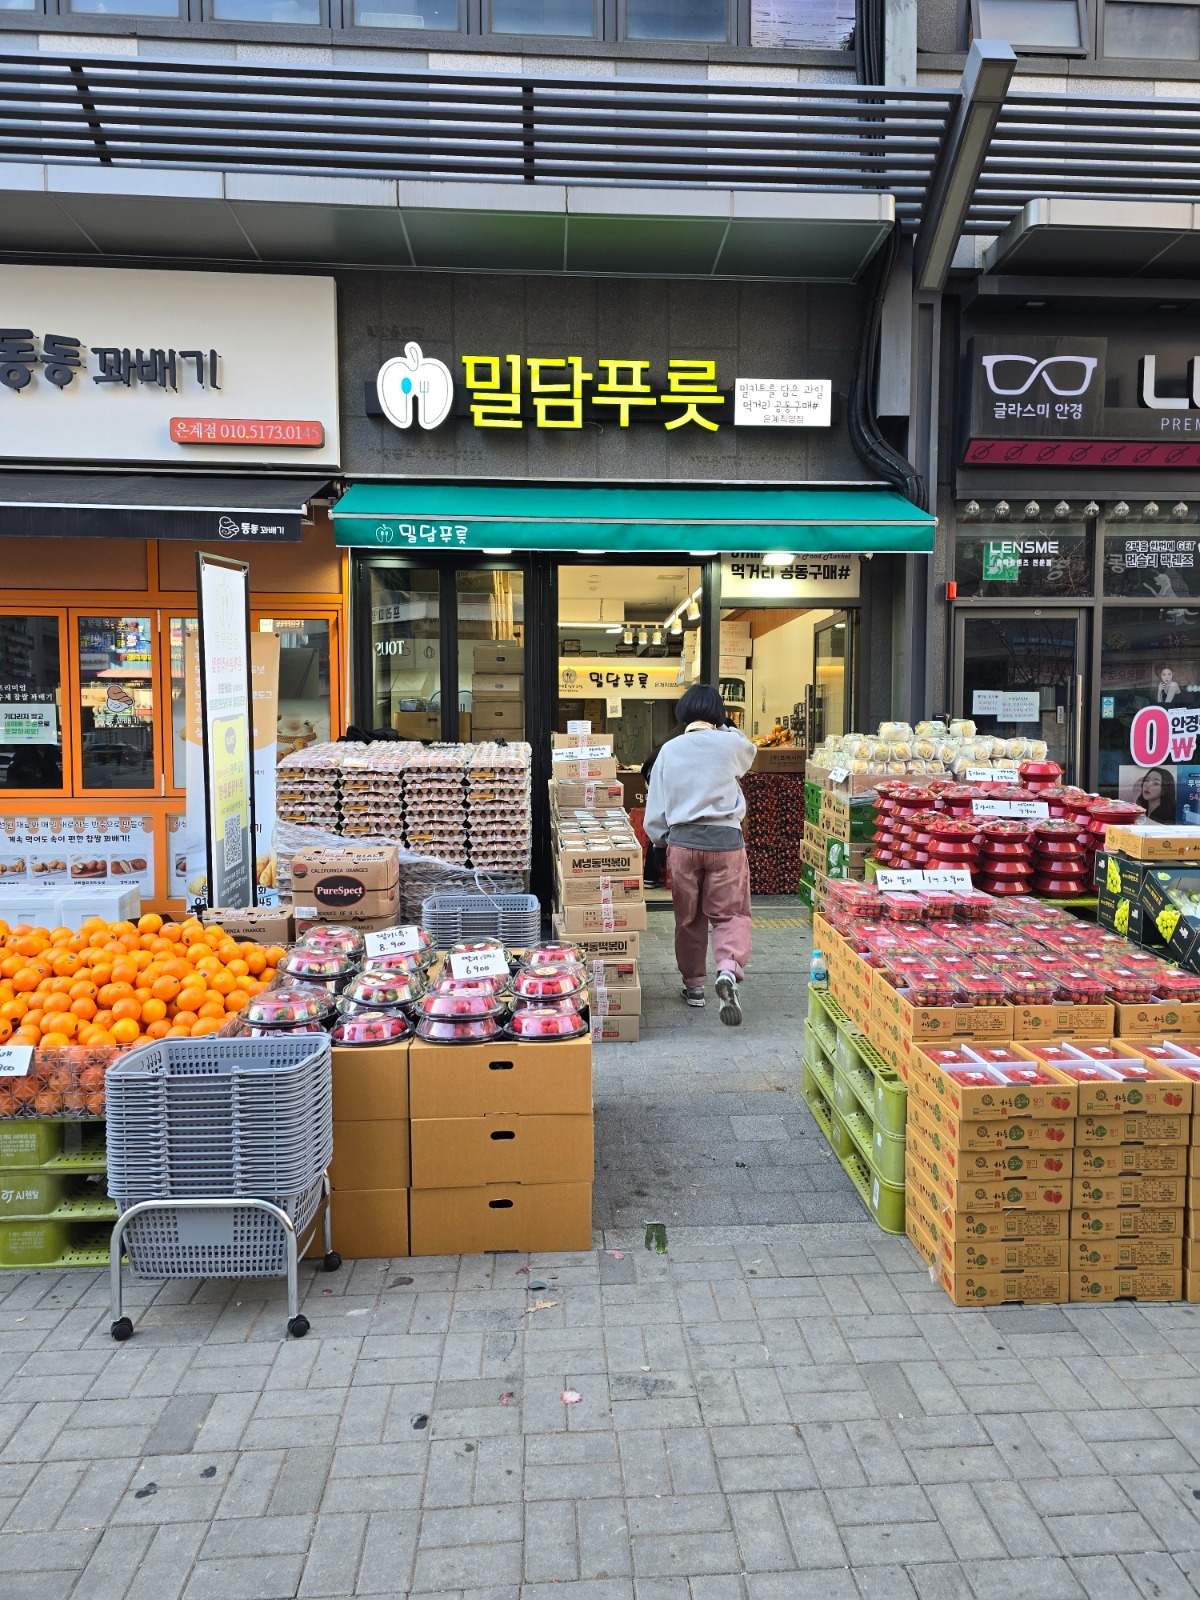
<svg viewBox="0 0 1200 1600"><path fill-rule="evenodd" d="M808 942L757 941L739 1032L646 941L590 1253L306 1275L293 1342L275 1283L134 1286L117 1346L99 1275L0 1275L0 1600L1198 1594L1200 1307L955 1310L821 1155Z"/></svg>

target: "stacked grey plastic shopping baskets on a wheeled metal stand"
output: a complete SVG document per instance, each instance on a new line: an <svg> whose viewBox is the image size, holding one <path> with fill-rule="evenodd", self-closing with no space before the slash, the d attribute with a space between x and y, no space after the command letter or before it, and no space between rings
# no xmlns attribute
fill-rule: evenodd
<svg viewBox="0 0 1200 1600"><path fill-rule="evenodd" d="M106 1078L112 1234L112 1336L128 1339L120 1258L144 1278L288 1277L288 1331L298 1314L298 1235L325 1197L331 1250L333 1155L330 1040L165 1038L136 1050Z"/></svg>

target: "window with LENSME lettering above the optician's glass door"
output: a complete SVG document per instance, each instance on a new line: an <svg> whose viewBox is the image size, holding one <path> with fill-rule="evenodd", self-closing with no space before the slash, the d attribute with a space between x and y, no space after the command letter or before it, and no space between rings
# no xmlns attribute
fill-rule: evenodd
<svg viewBox="0 0 1200 1600"><path fill-rule="evenodd" d="M954 576L962 598L1090 595L1091 523L974 522L958 510Z"/></svg>

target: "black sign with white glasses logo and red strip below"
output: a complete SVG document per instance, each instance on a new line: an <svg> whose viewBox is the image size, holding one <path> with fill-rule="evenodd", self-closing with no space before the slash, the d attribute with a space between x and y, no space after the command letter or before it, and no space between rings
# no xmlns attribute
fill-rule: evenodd
<svg viewBox="0 0 1200 1600"><path fill-rule="evenodd" d="M1200 466L1200 362L1142 344L1130 362L1110 360L1106 336L971 338L963 462ZM1114 392L1123 403L1109 403Z"/></svg>

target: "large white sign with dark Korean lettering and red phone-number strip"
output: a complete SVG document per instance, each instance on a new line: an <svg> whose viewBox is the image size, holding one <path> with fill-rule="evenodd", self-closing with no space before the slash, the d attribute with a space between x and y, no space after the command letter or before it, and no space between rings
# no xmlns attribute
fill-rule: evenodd
<svg viewBox="0 0 1200 1600"><path fill-rule="evenodd" d="M333 278L0 266L0 458L336 467Z"/></svg>

